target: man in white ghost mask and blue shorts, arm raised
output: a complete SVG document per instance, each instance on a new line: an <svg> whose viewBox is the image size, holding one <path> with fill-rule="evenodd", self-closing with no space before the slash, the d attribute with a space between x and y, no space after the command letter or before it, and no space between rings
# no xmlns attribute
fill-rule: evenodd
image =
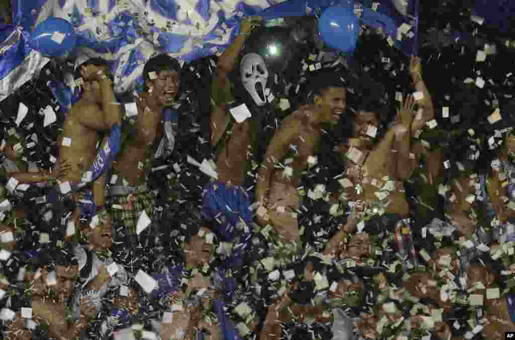
<svg viewBox="0 0 515 340"><path fill-rule="evenodd" d="M239 35L218 58L211 86L211 145L215 149L217 180L203 188L202 214L213 221L214 230L228 242L237 237L237 233L250 231L247 227L251 220L250 199L243 184L251 165L249 154L253 152L250 145L253 144L251 134L255 132L252 129L255 118L244 114L245 117L240 119L234 112L234 89L230 78L237 70L238 55L255 22L253 18L242 21ZM241 60L239 71L243 86L255 104L264 105L268 71L263 58L247 54ZM260 90L256 91L256 88Z"/></svg>

